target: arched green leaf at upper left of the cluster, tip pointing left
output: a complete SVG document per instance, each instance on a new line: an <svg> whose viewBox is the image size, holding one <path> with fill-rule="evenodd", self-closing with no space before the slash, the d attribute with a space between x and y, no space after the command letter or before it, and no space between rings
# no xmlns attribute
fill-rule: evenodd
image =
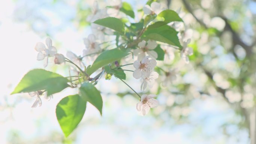
<svg viewBox="0 0 256 144"><path fill-rule="evenodd" d="M120 34L124 34L124 23L118 19L113 17L107 17L103 19L98 19L97 21L93 22L94 24L102 25L104 27L111 28Z"/></svg>

